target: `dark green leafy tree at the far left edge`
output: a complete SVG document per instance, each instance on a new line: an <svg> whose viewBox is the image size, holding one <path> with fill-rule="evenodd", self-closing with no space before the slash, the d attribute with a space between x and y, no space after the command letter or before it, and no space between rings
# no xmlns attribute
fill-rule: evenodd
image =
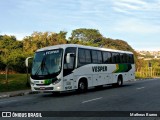
<svg viewBox="0 0 160 120"><path fill-rule="evenodd" d="M0 36L0 69L8 69L15 63L18 55L22 54L23 44L15 36Z"/></svg>

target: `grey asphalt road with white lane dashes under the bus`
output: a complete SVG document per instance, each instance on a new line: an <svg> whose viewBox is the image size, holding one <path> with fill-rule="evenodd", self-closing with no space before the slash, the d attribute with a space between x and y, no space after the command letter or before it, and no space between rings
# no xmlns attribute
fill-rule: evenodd
<svg viewBox="0 0 160 120"><path fill-rule="evenodd" d="M70 120L106 118L121 120L120 116L114 118L100 117L100 111L135 111L135 113L137 111L160 111L160 79L126 82L124 86L118 88L105 86L98 90L89 89L84 94L75 92L60 95L41 93L10 97L0 99L0 111L73 111L70 112L73 117L67 117ZM96 112L93 112L94 115L91 114L94 117L82 117L80 112L74 111ZM65 113L62 112L62 114ZM79 117L76 117L76 114L79 114ZM89 114L89 112L85 114ZM59 117L54 119L57 118ZM61 119L66 119L66 117L62 115ZM123 119L136 120L138 117L125 117ZM158 120L160 117L140 117L139 119Z"/></svg>

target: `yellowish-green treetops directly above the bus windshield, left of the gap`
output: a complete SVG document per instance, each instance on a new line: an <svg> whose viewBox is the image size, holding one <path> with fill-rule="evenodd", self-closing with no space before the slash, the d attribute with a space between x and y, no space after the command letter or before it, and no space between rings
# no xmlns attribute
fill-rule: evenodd
<svg viewBox="0 0 160 120"><path fill-rule="evenodd" d="M23 49L27 53L32 54L39 48L66 43L67 32L34 32L31 36L27 36L23 40Z"/></svg>

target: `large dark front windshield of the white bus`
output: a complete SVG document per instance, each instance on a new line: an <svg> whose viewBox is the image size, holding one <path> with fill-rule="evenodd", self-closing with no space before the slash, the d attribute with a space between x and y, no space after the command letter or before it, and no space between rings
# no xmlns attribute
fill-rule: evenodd
<svg viewBox="0 0 160 120"><path fill-rule="evenodd" d="M56 77L62 67L62 49L36 52L33 60L31 77L50 79Z"/></svg>

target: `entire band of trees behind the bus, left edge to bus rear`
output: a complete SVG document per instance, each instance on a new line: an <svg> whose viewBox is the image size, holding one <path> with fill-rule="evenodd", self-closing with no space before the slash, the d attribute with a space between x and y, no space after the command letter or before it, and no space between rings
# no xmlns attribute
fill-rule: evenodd
<svg viewBox="0 0 160 120"><path fill-rule="evenodd" d="M135 53L127 42L105 38L96 29L75 29L72 31L68 41L66 35L67 32L64 31L59 33L34 32L30 36L26 36L22 41L17 41L15 36L0 35L0 71L5 71L6 66L9 66L13 71L24 73L26 71L25 59L33 56L37 49L57 44L66 44L67 42L87 46L102 46Z"/></svg>

